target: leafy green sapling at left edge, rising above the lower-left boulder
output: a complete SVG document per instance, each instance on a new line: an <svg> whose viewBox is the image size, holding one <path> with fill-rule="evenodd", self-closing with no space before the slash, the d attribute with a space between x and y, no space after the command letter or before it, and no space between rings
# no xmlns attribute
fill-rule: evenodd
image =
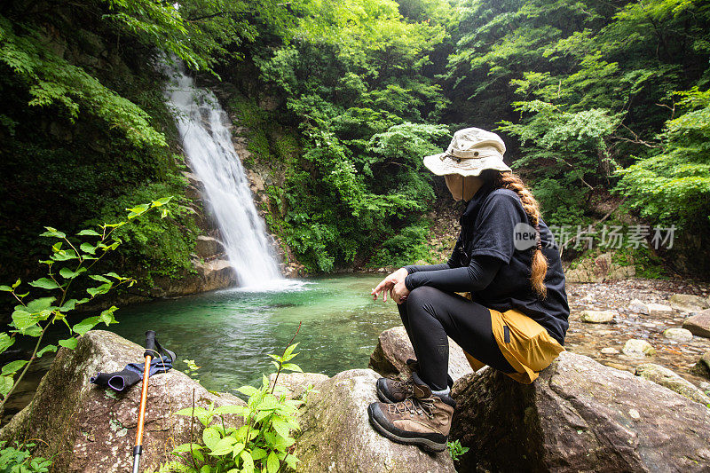
<svg viewBox="0 0 710 473"><path fill-rule="evenodd" d="M40 290L23 288L20 279L12 286L0 286L0 292L10 293L19 303L15 305L12 312L11 328L0 333L0 353L7 351L20 336L37 339L30 359L14 360L2 368L0 409L28 372L32 361L41 358L44 353L58 350L56 345L42 345L45 332L55 322L62 322L67 326L68 337L59 340L59 345L70 350L76 347L76 336L85 334L99 323L103 322L108 326L116 322L114 319L114 311L118 310L116 306L102 311L98 316L85 318L74 326L69 325L67 314L74 311L77 305L86 304L114 288L123 285L130 287L135 284L136 280L119 276L115 272L96 273L91 272L91 268L122 244L122 240L115 234L116 229L129 224L150 209L160 208L162 217L167 217L168 203L171 199L165 197L126 209L129 211L127 220L98 225L98 230L85 229L75 236L67 235L50 226L45 227L46 232L40 236L53 241L51 254L40 261L46 266L46 277L27 283L29 287ZM75 289L80 280L89 282L90 287L85 289L88 296L83 293L76 294ZM15 378L15 374L19 372L20 374Z"/></svg>

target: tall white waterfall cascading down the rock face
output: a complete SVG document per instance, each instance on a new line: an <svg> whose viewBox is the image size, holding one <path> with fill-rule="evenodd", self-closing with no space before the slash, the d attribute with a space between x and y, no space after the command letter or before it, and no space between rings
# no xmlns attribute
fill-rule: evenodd
<svg viewBox="0 0 710 473"><path fill-rule="evenodd" d="M171 77L165 95L177 112L183 150L204 185L239 286L273 287L282 280L279 264L234 151L229 117L211 91L196 88L192 77L174 67L163 68Z"/></svg>

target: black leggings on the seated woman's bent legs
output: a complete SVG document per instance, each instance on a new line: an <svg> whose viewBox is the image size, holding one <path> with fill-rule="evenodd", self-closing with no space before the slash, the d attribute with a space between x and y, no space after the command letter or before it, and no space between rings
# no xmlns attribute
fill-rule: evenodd
<svg viewBox="0 0 710 473"><path fill-rule="evenodd" d="M493 337L491 312L484 305L430 286L415 288L399 316L419 361L419 377L432 390L446 390L449 342L446 335L469 355L505 373L515 372Z"/></svg>

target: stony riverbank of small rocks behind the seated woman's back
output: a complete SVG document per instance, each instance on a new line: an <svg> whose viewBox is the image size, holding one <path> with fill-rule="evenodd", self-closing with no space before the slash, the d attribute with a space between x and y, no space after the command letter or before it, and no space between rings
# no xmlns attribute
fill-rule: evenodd
<svg viewBox="0 0 710 473"><path fill-rule="evenodd" d="M695 296L695 305L672 302L672 298L677 298L675 295ZM681 280L628 279L568 284L571 313L564 346L606 366L631 372L635 372L638 365L652 362L710 389L710 385L702 384L710 380L691 371L698 359L710 351L710 338L693 335L690 339L678 339L664 335L668 328L681 328L686 319L707 309L710 306L708 295L710 286L706 283ZM632 304L635 301L637 303ZM582 322L583 311L611 311L611 321ZM624 346L631 339L650 343L654 354L636 358L624 353Z"/></svg>

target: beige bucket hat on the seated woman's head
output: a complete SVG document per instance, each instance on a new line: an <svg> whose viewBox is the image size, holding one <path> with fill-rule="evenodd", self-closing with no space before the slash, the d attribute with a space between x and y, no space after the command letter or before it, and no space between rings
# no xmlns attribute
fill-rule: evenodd
<svg viewBox="0 0 710 473"><path fill-rule="evenodd" d="M465 128L454 133L446 152L425 157L424 166L438 176L479 176L484 169L511 170L503 162L503 154L501 137L480 128Z"/></svg>

